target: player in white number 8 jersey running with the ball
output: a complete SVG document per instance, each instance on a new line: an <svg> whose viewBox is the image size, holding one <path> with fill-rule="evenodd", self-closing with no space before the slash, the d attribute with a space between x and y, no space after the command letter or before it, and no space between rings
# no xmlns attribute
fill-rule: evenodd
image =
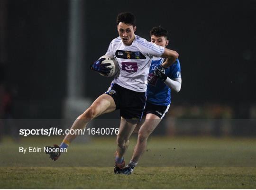
<svg viewBox="0 0 256 190"><path fill-rule="evenodd" d="M135 35L136 19L131 13L120 13L117 17L119 37L112 40L106 54L116 56L120 73L112 81L107 92L98 97L73 123L71 129L83 129L91 119L102 114L120 109L120 127L117 136L117 151L114 172L119 173L125 166L123 156L129 145L129 137L137 123L140 122L146 104L147 75L153 56L168 58L174 62L178 53L162 46L147 42ZM108 73L107 64L100 59L91 65L97 72ZM67 148L77 135L66 135L60 146L55 149ZM60 151L49 151L54 161Z"/></svg>

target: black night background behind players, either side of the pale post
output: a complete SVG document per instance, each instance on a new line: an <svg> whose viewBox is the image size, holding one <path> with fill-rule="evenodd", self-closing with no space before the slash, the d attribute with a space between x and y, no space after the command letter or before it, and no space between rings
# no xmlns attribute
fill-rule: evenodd
<svg viewBox="0 0 256 190"><path fill-rule="evenodd" d="M67 96L68 0L1 1L1 84L14 118L62 118ZM116 16L137 17L138 36L161 25L179 53L182 90L174 106L228 106L232 118L252 118L256 107L255 0L85 1L84 95L96 99L111 79L89 71L118 36ZM36 111L35 111L36 110Z"/></svg>

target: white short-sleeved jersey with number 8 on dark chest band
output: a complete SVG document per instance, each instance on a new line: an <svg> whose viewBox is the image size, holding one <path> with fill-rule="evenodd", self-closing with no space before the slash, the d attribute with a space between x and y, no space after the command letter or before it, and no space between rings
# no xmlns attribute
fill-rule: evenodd
<svg viewBox="0 0 256 190"><path fill-rule="evenodd" d="M113 39L106 55L117 58L120 72L112 82L129 90L145 92L151 60L164 51L164 47L139 36L135 36L131 45L124 45L120 37Z"/></svg>

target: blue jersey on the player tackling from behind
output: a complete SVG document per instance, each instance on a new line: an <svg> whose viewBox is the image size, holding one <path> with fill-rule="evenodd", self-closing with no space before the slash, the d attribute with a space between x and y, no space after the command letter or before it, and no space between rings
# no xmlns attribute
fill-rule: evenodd
<svg viewBox="0 0 256 190"><path fill-rule="evenodd" d="M147 101L152 104L168 106L171 103L171 89L154 75L155 67L163 62L164 58L153 58L148 74L146 96ZM172 80L181 78L181 65L178 59L165 69L165 74Z"/></svg>

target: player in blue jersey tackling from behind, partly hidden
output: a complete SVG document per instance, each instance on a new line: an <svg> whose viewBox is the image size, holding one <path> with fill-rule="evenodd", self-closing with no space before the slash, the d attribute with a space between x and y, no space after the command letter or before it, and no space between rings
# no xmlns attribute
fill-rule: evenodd
<svg viewBox="0 0 256 190"><path fill-rule="evenodd" d="M150 31L151 42L165 47L169 41L167 30L154 27ZM181 89L181 66L178 59L173 64L164 58L154 57L148 74L147 100L144 109L145 122L137 126L138 139L130 163L122 170L129 175L137 165L139 158L146 150L146 142L155 127L164 118L171 103L171 89L178 92Z"/></svg>

